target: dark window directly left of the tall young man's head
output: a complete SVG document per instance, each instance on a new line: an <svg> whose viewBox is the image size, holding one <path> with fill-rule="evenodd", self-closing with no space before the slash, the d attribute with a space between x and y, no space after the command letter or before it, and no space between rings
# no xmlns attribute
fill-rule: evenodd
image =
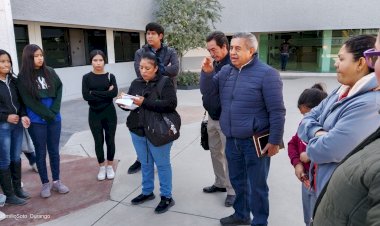
<svg viewBox="0 0 380 226"><path fill-rule="evenodd" d="M113 34L115 46L115 61L133 61L136 50L140 48L139 33L115 31Z"/></svg>

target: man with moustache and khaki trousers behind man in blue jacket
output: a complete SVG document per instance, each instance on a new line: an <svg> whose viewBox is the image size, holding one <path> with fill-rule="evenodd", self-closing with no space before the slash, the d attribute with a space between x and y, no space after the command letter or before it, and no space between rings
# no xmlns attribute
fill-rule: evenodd
<svg viewBox="0 0 380 226"><path fill-rule="evenodd" d="M230 63L230 56L228 54L228 39L223 32L215 31L207 36L206 42L207 50L214 59L213 67L217 73L224 65ZM205 94L202 96L202 100L203 106L208 112L208 143L215 174L214 184L203 188L203 192L214 193L227 191L227 197L224 205L226 207L230 207L235 201L235 191L231 186L230 179L228 178L228 166L224 152L226 137L223 135L219 124L219 117L222 111L220 107L219 93L213 92L208 95Z"/></svg>

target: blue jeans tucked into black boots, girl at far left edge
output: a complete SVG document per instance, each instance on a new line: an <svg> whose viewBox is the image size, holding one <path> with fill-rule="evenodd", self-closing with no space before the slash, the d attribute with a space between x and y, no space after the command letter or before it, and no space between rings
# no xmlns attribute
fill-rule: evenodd
<svg viewBox="0 0 380 226"><path fill-rule="evenodd" d="M21 122L0 123L0 169L6 170L12 162L20 162L23 127Z"/></svg>

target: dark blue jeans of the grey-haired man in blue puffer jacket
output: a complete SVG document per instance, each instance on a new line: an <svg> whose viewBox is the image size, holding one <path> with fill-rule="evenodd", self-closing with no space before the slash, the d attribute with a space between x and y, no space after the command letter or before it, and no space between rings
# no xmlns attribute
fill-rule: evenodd
<svg viewBox="0 0 380 226"><path fill-rule="evenodd" d="M252 138L227 138L226 157L230 181L236 193L234 216L249 219L252 212L252 225L267 225L270 158L257 157Z"/></svg>

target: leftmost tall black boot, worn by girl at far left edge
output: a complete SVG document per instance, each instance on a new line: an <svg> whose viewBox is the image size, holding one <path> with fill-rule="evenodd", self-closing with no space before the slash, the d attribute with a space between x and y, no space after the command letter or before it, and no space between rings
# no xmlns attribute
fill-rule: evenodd
<svg viewBox="0 0 380 226"><path fill-rule="evenodd" d="M0 184L4 195L7 196L5 203L18 206L26 204L26 200L17 197L13 191L11 171L9 169L0 170Z"/></svg>

